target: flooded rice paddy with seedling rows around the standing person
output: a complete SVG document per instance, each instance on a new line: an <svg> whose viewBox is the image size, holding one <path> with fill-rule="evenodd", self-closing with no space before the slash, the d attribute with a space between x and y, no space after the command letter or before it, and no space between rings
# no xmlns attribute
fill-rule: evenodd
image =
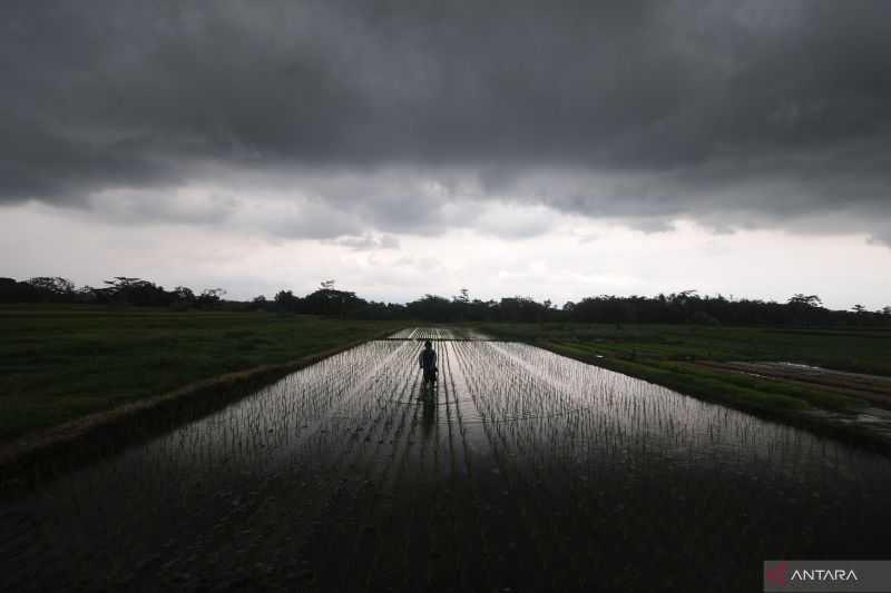
<svg viewBox="0 0 891 593"><path fill-rule="evenodd" d="M528 345L412 329L0 513L3 591L760 591L767 559L891 557L891 462Z"/></svg>

